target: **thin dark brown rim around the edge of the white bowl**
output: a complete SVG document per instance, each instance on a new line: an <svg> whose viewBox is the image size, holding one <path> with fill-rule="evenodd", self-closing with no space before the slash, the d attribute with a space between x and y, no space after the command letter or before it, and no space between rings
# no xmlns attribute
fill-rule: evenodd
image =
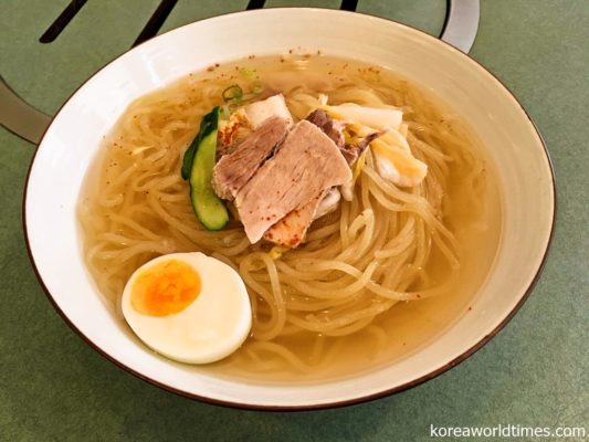
<svg viewBox="0 0 589 442"><path fill-rule="evenodd" d="M144 381L146 381L148 383L151 383L151 385L154 385L156 387L159 387L159 388L161 388L164 390L167 390L167 391L170 391L172 393L182 396L185 398L199 400L201 402L206 402L206 403L210 403L210 404L214 404L214 406L222 406L222 407L236 408L236 409L243 409L243 410L259 410L259 411L311 411L311 410L325 410L325 409L333 409L333 408L340 408L340 407L359 404L359 403L372 401L372 400L376 400L376 399L385 398L387 396L390 396L390 394L393 394L393 393L398 393L400 391L408 390L408 389L417 387L417 386L419 386L419 385L421 385L421 383L423 383L423 382L425 382L428 380L431 380L431 379L438 377L439 375L448 371L452 367L455 367L456 365L459 365L460 362L462 362L463 360L465 360L466 358L469 358L470 356L475 354L486 343L488 343L495 335L497 335L507 325L507 323L515 316L515 314L519 311L522 305L524 305L524 303L526 302L526 299L530 295L532 291L534 290L534 287L536 286L536 283L538 282L538 280L540 277L540 274L541 274L541 271L544 269L544 265L546 264L546 260L547 260L547 256L548 256L548 251L550 249L550 245L551 245L551 242L553 242L553 238L554 238L555 223L556 223L556 213L557 213L556 181L555 181L553 161L550 159L550 155L549 155L548 149L546 147L546 143L544 141L544 138L543 138L540 131L538 130L538 127L536 126L536 124L534 123L534 120L532 119L529 114L526 112L524 106L519 103L519 101L512 93L512 91L495 74L493 74L490 70L487 70L485 66L483 66L477 61L471 59L467 54L459 51L457 49L455 49L451 44L444 42L443 40L440 40L440 39L438 39L435 36L432 36L432 35L430 35L430 34L428 34L428 33L425 33L423 31L420 31L419 29L411 28L411 27L409 27L407 24L398 23L398 22L396 22L393 20L389 20L389 19L385 19L385 18L380 18L380 17L362 14L362 13L359 13L359 12L341 11L341 10L329 10L329 9L318 9L318 8L296 8L296 7L292 7L292 8L267 8L267 9L259 9L259 10L251 10L251 11L230 12L230 13L215 15L215 17L212 17L210 19L199 20L199 21L214 20L214 19L217 19L219 17L227 17L227 15L265 13L264 11L269 11L269 10L274 10L274 11L276 11L276 10L288 10L288 11L291 11L291 10L295 10L295 9L296 10L307 10L307 11L320 11L322 13L324 13L325 11L329 11L327 13L364 15L364 17L368 17L370 19L383 20L383 21L393 23L395 25L407 28L407 29L409 29L411 31L419 32L420 34L424 35L427 39L430 39L430 41L432 41L432 42L441 43L441 44L450 48L452 51L454 51L456 53L457 56L466 57L469 60L469 62L474 63L480 70L482 70L486 74L491 75L503 88L505 88L505 91L508 92L509 96L513 98L515 104L517 104L517 106L519 106L519 108L524 112L524 114L526 115L527 119L529 120L529 123L534 127L534 130L536 131L536 135L538 136L538 139L539 139L539 141L540 141L540 144L541 144L541 146L544 148L544 154L545 154L545 157L546 157L546 161L548 164L548 169L550 171L551 190L553 190L553 204L554 204L554 207L553 207L553 219L551 219L551 224L550 224L550 233L548 235L548 241L547 241L546 248L544 250L544 254L543 254L543 257L541 257L540 265L536 270L536 274L534 275L534 278L529 283L529 286L525 291L525 293L522 296L522 298L518 301L518 303L515 305L515 307L508 313L508 315L505 318L503 318L503 320L488 335L486 335L484 338L482 338L478 343L473 345L466 351L464 351L460 356L455 357L450 362L446 362L442 367L437 368L435 370L429 372L428 375L424 375L424 376L422 376L422 377L420 377L418 379L414 379L414 380L412 380L410 382L406 382L406 383L403 383L401 386L397 386L397 387L391 388L391 389L379 391L378 393L374 393L374 394L367 394L367 396L362 396L362 397L359 397L359 398L347 399L347 400L337 401L337 402L328 402L328 403L319 403L319 404L311 404L311 406L256 406L256 404L251 404L251 403L223 401L223 400L219 400L219 399L212 399L212 398L208 398L208 397L203 397L203 396L199 396L199 394L189 393L187 391L179 390L177 388L173 388L173 387L167 386L165 383L161 383L161 382L159 382L156 379L151 379L151 378L149 378L149 377L147 377L145 375L141 375L140 372L134 370L133 368L130 368L130 367L126 366L125 364L120 362L119 360L115 359L113 356L108 355L105 350L103 350L102 348L96 346L91 339L88 339L72 323L72 320L70 320L70 318L63 313L63 311L60 308L60 306L55 302L55 298L53 297L53 295L48 290L44 281L43 281L43 278L41 276L41 273L39 272L39 269L36 267L36 263L34 261L34 257L33 257L33 254L32 254L32 250L31 250L31 244L29 242L29 234L28 234L28 229L27 229L27 193L28 193L28 189L29 189L29 181L30 181L31 170L32 170L32 167L34 165L34 159L36 158L36 154L39 151L39 146L41 146L41 144L43 143L43 139L45 138L46 131L53 125L53 120L60 115L62 108L70 102L72 96L74 96L80 88L82 88L94 76L99 74L111 63L114 63L116 60L118 60L123 55L127 54L128 52L135 50L136 48L139 48L143 44L146 44L149 40L147 40L146 42L144 42L141 44L138 44L135 48L132 48L132 49L125 51L124 53L118 55L116 59L114 59L111 62L106 63L103 67L101 67L98 71L96 71L94 74L92 74L87 80L85 80L78 87L76 87L76 90L67 97L67 99L60 106L60 108L57 109L55 115L52 117L51 124L48 126L48 128L43 133L43 136L41 137L41 140L36 145L36 149L34 151L33 158L31 159L31 164L29 165L29 170L27 172L27 180L25 180L24 190L23 190L22 223L23 223L24 241L25 241L25 244L27 244L27 252L29 254L29 259L30 259L31 264L33 266L34 273L36 275L36 278L39 280L39 282L41 284L41 287L45 292L45 295L48 296L50 302L53 304L53 307L57 311L57 313L60 314L62 319L70 326L70 328L72 328L72 330L74 330L83 340L85 340L86 344L88 344L92 348L94 348L94 350L96 350L99 355L102 355L104 358L106 358L111 362L115 364L119 368L124 369L125 371L128 371L129 373L136 376L139 379L143 379ZM167 32L164 32L164 33L161 33L159 35L164 35L164 34L166 34L168 32L172 32L172 31L176 31L176 30L185 28L185 27L190 27L193 23L197 23L199 21L196 21L196 22L192 22L192 23L188 23L188 24L185 24L185 25L179 27L179 28L175 28L175 29L172 29L170 31L167 31ZM159 35L157 35L155 38L158 38Z"/></svg>

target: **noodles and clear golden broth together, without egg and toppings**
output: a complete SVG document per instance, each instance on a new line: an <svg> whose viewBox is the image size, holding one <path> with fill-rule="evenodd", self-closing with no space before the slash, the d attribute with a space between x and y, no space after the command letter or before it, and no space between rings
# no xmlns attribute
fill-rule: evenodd
<svg viewBox="0 0 589 442"><path fill-rule="evenodd" d="M224 104L235 84L241 102ZM339 115L344 103L396 106L410 146L387 156L397 141L380 130L350 164L350 200L341 189L337 209L295 249L252 245L231 203L224 229L204 229L180 177L185 150L213 106L227 118L278 93L295 122L325 108L350 123ZM396 165L396 178L383 160ZM427 165L424 178L410 160ZM238 270L252 333L207 369L250 379L346 376L416 351L467 314L501 228L493 172L457 113L387 70L318 54L211 66L134 102L88 172L78 214L88 270L117 311L130 274L155 256L199 251Z"/></svg>

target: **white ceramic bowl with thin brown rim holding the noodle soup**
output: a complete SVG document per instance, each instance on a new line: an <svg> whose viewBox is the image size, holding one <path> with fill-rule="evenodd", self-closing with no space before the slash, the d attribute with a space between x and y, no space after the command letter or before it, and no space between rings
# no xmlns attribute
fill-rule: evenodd
<svg viewBox="0 0 589 442"><path fill-rule="evenodd" d="M319 24L320 23L320 24ZM496 260L472 311L425 348L356 377L307 383L245 383L159 358L140 345L95 292L81 255L75 206L88 168L127 104L214 62L291 48L390 67L460 109L498 169L503 230ZM299 409L353 403L399 391L451 368L515 314L550 241L555 188L540 136L512 94L454 48L411 28L357 13L270 9L179 28L125 53L62 107L31 165L24 223L40 281L65 320L94 348L166 389L217 403Z"/></svg>

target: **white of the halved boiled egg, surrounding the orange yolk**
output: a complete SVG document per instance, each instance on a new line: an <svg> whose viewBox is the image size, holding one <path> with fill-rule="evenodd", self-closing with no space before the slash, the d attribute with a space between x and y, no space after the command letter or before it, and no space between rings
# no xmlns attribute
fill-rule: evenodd
<svg viewBox="0 0 589 442"><path fill-rule="evenodd" d="M177 260L200 276L201 290L183 311L168 316L148 316L132 304L137 277L162 261ZM125 319L135 334L155 351L188 364L208 364L235 351L252 327L252 309L245 284L231 266L203 253L172 253L141 265L130 276L122 298Z"/></svg>

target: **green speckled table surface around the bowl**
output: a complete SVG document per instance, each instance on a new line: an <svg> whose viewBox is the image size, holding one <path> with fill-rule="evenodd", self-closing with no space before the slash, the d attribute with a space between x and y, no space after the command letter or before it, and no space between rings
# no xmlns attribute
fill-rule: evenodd
<svg viewBox="0 0 589 442"><path fill-rule="evenodd" d="M0 74L48 114L133 44L159 1L90 0L53 43L40 44L67 3L0 2ZM245 4L180 0L161 31ZM339 1L267 1L284 4ZM358 6L432 34L444 10L443 0ZM210 406L152 387L90 348L53 309L27 255L21 194L34 146L0 128L0 441L421 441L430 425L498 424L585 427L589 440L589 1L483 0L471 55L519 98L554 161L558 219L544 273L474 356L417 388L343 409Z"/></svg>

